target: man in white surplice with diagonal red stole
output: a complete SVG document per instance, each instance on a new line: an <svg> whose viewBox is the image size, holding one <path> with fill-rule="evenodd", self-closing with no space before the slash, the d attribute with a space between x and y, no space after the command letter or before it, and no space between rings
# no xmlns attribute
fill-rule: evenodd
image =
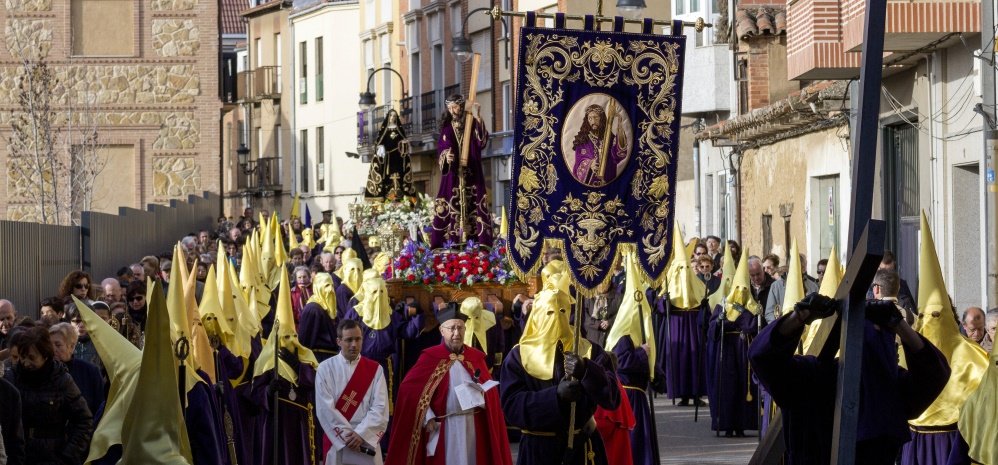
<svg viewBox="0 0 998 465"><path fill-rule="evenodd" d="M353 320L336 327L340 353L319 365L319 423L332 443L326 465L381 464L378 442L388 427L388 386L381 365L361 357L364 334Z"/></svg>

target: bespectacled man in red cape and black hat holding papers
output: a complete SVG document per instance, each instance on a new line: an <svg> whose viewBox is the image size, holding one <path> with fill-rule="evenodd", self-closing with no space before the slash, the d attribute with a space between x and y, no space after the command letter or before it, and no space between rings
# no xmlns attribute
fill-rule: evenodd
<svg viewBox="0 0 998 465"><path fill-rule="evenodd" d="M386 465L512 465L498 389L481 393L491 380L485 353L464 344L467 318L456 308L437 317L443 343L399 386Z"/></svg>

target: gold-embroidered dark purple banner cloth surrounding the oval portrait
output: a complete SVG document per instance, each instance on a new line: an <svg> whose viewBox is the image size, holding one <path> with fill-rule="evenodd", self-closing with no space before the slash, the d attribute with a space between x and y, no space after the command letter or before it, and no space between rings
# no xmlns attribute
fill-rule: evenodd
<svg viewBox="0 0 998 465"><path fill-rule="evenodd" d="M606 266L616 247L614 240L638 246L641 271L651 282L661 281L652 276L650 268L664 268L668 260L669 224L665 219L672 205L668 194L672 190L668 168L672 163L672 124L676 118L676 78L679 73L679 44L657 40L631 40L626 45L612 40L580 40L559 34L527 34L524 86L519 96L523 102L523 133L517 150L522 155L519 179L516 182L516 211L512 220L509 253L519 255L520 262L533 263L520 269L512 260L514 271L521 277L535 274L541 265L539 245L547 235L561 231L568 240L563 250L572 253L581 266L573 269L587 281L602 275L610 279ZM553 160L561 157L555 146L558 117L553 109L564 103L565 83L584 79L593 87L629 86L642 117L635 129L635 149L632 157L638 163L631 180L630 193L642 203L638 211L623 212L620 198L593 198L593 192L583 199L567 197L562 205L549 205L547 194L558 185ZM603 196L604 194L598 194ZM540 225L546 218L557 225L544 231ZM566 247L567 246L567 247ZM574 268L574 267L573 267ZM573 278L576 278L573 276ZM584 295L594 289L573 279Z"/></svg>

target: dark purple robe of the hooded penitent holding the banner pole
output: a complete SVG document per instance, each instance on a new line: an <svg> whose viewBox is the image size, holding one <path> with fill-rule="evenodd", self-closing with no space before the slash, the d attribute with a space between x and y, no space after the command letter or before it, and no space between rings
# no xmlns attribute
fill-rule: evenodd
<svg viewBox="0 0 998 465"><path fill-rule="evenodd" d="M614 410L620 405L620 390L610 357L599 346L593 346L592 359L587 360L586 374L582 378L582 399L576 402L575 445L570 459L563 463L572 465L606 464L603 440L594 429L587 436L584 427L596 413L596 406ZM509 352L502 366L499 395L506 424L520 428L518 465L558 463L565 456L570 403L558 399L558 382L564 377L561 356L554 361L553 377L540 380L530 376L520 360L520 346ZM593 453L587 459L587 452Z"/></svg>

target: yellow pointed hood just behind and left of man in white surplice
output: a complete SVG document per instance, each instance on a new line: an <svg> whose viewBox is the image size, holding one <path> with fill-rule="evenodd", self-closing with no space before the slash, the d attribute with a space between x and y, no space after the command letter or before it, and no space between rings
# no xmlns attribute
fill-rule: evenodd
<svg viewBox="0 0 998 465"><path fill-rule="evenodd" d="M260 356L257 357L256 364L253 366L253 377L255 378L274 369L274 356L279 348L297 353L298 360L301 363L307 363L312 365L313 368L317 368L319 362L315 359L315 354L298 341L298 330L295 329L295 317L291 310L291 285L288 284L287 273L281 273L280 291L278 291L277 295L277 314L275 315L274 322L275 325L270 330L270 337L267 339L267 344L263 346L263 350L260 351ZM283 360L279 360L278 363L277 372L280 377L297 386L298 373L292 370Z"/></svg>

